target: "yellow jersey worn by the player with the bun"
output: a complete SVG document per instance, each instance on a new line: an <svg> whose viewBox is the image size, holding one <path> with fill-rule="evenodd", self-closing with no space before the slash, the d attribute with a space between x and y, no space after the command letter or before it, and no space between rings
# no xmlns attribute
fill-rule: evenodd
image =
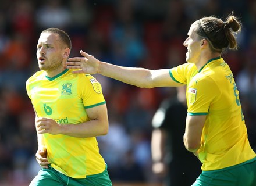
<svg viewBox="0 0 256 186"><path fill-rule="evenodd" d="M188 115L207 115L198 149L202 170L218 170L255 158L232 71L214 58L199 71L192 63L170 69L173 80L187 85Z"/></svg>

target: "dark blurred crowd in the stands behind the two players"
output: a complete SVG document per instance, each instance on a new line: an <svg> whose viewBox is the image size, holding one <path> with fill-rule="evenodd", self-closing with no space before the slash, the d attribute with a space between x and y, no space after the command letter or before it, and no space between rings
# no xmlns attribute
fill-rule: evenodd
<svg viewBox="0 0 256 186"><path fill-rule="evenodd" d="M49 27L80 49L122 66L171 68L185 63L190 24L203 16L225 19L232 10L243 24L239 50L223 58L234 73L251 146L256 150L256 1L254 0L1 0L0 185L28 183L38 169L34 110L25 83L38 71L36 45ZM151 171L151 120L173 88L143 89L95 74L109 113L109 133L98 137L112 181L158 181ZM193 170L192 170L193 171Z"/></svg>

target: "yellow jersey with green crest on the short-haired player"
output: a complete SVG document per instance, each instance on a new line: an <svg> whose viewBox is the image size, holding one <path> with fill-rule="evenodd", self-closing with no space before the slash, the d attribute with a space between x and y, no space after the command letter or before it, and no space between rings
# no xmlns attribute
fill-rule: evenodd
<svg viewBox="0 0 256 186"><path fill-rule="evenodd" d="M89 121L86 108L105 104L101 84L93 76L67 69L52 78L38 71L27 80L26 89L37 116L60 124ZM67 176L86 178L105 170L95 137L44 134L44 143L51 166Z"/></svg>

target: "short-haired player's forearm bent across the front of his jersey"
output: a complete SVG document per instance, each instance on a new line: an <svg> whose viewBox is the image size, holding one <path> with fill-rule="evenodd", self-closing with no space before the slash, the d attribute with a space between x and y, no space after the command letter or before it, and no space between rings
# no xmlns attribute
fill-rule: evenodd
<svg viewBox="0 0 256 186"><path fill-rule="evenodd" d="M108 123L91 120L81 124L61 124L59 134L78 138L96 137L108 134Z"/></svg>

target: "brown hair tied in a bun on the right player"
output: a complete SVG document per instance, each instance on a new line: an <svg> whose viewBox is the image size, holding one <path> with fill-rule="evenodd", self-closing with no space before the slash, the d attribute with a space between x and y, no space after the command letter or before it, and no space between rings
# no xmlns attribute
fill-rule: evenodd
<svg viewBox="0 0 256 186"><path fill-rule="evenodd" d="M223 21L215 16L203 17L198 20L197 34L210 42L214 52L222 53L225 49L238 48L236 34L241 31L241 23L233 12Z"/></svg>

